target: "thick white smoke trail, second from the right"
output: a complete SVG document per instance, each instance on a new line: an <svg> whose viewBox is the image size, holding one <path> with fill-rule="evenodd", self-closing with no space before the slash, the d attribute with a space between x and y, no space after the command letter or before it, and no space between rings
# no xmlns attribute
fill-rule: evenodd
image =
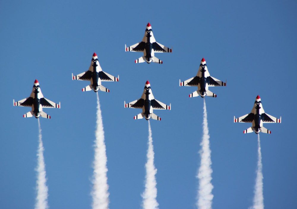
<svg viewBox="0 0 297 209"><path fill-rule="evenodd" d="M196 203L199 209L211 209L212 199L214 195L211 193L214 186L211 184L211 151L209 148L209 134L207 124L206 103L203 100L203 135L200 143L199 151L201 162L198 170L197 178L199 179L198 201Z"/></svg>

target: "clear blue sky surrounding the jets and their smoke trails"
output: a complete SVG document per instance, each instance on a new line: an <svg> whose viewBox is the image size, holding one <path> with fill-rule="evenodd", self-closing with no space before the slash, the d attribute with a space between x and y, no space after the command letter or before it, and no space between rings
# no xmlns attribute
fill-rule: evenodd
<svg viewBox="0 0 297 209"><path fill-rule="evenodd" d="M214 185L213 208L252 205L257 136L233 116L251 111L261 96L268 114L282 116L261 134L266 208L297 208L296 199L296 1L1 1L0 2L0 208L33 208L38 143L35 118L13 107L38 79L44 96L61 101L41 119L50 208L91 208L96 94L72 81L96 52L103 71L120 75L99 92L108 157L111 209L138 209L144 190L146 120L133 120L126 102L140 98L149 79L156 99L171 111L152 121L160 208L195 208L203 100L178 79L195 76L200 60L227 87L206 98ZM156 54L163 64L135 64L150 22L157 42L173 48Z"/></svg>

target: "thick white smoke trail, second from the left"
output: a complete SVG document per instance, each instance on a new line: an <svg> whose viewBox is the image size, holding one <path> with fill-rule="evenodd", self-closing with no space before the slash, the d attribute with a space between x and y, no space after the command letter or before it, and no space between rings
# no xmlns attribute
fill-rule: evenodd
<svg viewBox="0 0 297 209"><path fill-rule="evenodd" d="M102 123L102 115L99 103L99 96L97 92L97 128L95 131L95 157L93 162L93 189L91 192L93 202L93 209L108 209L109 193L107 184L107 157L106 147L104 143L104 130Z"/></svg>

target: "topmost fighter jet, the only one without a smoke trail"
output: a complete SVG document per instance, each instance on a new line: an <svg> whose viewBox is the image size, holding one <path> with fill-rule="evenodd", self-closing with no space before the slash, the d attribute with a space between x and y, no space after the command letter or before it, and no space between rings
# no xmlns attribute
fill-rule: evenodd
<svg viewBox="0 0 297 209"><path fill-rule="evenodd" d="M159 52L172 52L172 49L165 47L162 44L156 42L153 31L151 30L151 24L146 25L146 32L141 42L133 44L132 46L127 47L125 44L125 52L143 52L143 56L135 60L135 63L159 63L163 62L154 56L154 53Z"/></svg>

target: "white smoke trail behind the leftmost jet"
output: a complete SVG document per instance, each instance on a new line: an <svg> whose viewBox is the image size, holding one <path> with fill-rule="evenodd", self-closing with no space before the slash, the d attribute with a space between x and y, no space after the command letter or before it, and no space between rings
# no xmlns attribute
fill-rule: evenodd
<svg viewBox="0 0 297 209"><path fill-rule="evenodd" d="M40 121L38 118L38 130L39 130L39 146L37 150L37 180L36 180L36 189L37 197L35 203L35 209L47 209L48 208L48 186L46 186L46 173L45 173L45 163L43 157L43 144L42 144L42 134Z"/></svg>

